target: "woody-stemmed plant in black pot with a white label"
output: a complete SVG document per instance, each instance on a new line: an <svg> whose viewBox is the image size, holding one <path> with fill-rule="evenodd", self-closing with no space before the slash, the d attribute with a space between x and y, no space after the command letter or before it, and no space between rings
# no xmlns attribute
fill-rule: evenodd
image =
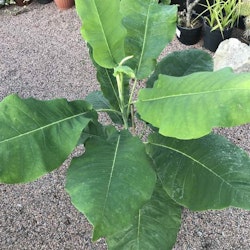
<svg viewBox="0 0 250 250"><path fill-rule="evenodd" d="M183 44L196 44L201 38L203 20L193 11L199 2L200 0L186 0L186 8L178 12L176 36Z"/></svg>

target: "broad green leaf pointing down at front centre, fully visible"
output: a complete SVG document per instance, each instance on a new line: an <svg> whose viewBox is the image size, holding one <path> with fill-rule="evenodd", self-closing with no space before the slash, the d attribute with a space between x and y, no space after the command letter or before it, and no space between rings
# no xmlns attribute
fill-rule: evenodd
<svg viewBox="0 0 250 250"><path fill-rule="evenodd" d="M66 189L93 224L94 240L128 227L155 185L144 144L128 131L111 132L88 139L67 173Z"/></svg>

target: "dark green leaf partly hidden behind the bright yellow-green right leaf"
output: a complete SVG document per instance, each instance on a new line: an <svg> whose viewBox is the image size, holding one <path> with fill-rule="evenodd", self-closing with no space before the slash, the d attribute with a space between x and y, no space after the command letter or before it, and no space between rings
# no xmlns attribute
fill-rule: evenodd
<svg viewBox="0 0 250 250"><path fill-rule="evenodd" d="M207 52L198 49L175 51L156 65L147 81L147 87L152 88L160 74L186 76L200 71L213 71L213 59Z"/></svg>

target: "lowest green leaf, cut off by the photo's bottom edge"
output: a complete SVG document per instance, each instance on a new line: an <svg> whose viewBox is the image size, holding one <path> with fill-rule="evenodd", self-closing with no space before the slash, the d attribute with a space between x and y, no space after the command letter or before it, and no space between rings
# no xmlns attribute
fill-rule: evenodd
<svg viewBox="0 0 250 250"><path fill-rule="evenodd" d="M154 193L138 211L134 223L107 239L109 249L171 250L181 224L181 207L156 185Z"/></svg>

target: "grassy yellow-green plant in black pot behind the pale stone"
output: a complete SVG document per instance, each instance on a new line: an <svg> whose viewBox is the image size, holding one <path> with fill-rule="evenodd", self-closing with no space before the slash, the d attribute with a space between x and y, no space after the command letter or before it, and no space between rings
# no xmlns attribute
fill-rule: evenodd
<svg viewBox="0 0 250 250"><path fill-rule="evenodd" d="M208 0L206 2L209 15L204 17L204 47L215 52L223 40L232 36L233 27L240 15L241 0L215 0L212 5Z"/></svg>

